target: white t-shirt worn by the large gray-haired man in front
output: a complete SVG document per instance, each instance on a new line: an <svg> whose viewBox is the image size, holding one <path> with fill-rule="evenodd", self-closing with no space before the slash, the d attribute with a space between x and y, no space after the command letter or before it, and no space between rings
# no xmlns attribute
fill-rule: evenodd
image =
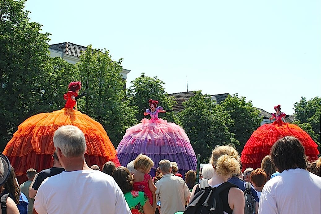
<svg viewBox="0 0 321 214"><path fill-rule="evenodd" d="M96 170L62 172L46 178L38 189L34 209L39 214L131 213L115 180Z"/></svg>

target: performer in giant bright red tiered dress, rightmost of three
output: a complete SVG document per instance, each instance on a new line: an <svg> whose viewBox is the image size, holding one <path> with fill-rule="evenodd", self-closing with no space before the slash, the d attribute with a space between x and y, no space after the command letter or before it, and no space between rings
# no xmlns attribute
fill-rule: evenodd
<svg viewBox="0 0 321 214"><path fill-rule="evenodd" d="M284 123L282 118L285 118L285 114L281 112L280 105L275 106L274 110L276 113L272 113L270 120L275 118L275 121L258 127L246 142L241 155L243 170L247 167L259 168L262 159L270 154L272 145L280 138L290 135L298 138L303 144L309 160L317 159L317 144L310 135L295 124Z"/></svg>

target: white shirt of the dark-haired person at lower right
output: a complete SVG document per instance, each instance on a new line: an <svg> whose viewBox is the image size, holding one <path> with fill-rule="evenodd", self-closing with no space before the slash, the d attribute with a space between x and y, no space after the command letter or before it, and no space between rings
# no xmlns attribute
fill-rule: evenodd
<svg viewBox="0 0 321 214"><path fill-rule="evenodd" d="M305 169L284 170L263 187L259 214L321 213L321 177Z"/></svg>

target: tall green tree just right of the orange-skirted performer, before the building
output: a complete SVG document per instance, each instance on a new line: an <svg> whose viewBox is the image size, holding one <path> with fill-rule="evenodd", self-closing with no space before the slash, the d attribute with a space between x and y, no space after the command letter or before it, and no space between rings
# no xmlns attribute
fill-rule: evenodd
<svg viewBox="0 0 321 214"><path fill-rule="evenodd" d="M115 147L126 129L137 123L137 107L125 99L121 63L122 59L113 61L108 50L93 50L90 45L77 64L82 91L87 93L79 100L79 110L103 125Z"/></svg>

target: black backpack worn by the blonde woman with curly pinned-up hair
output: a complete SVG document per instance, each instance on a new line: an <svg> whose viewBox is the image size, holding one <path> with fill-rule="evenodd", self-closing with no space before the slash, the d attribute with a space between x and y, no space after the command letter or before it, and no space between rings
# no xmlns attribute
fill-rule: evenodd
<svg viewBox="0 0 321 214"><path fill-rule="evenodd" d="M218 187L211 187L207 183L207 179L201 180L200 190L195 194L192 201L189 202L184 214L222 214L223 201L220 193L231 187L236 187L234 184L225 182Z"/></svg>

